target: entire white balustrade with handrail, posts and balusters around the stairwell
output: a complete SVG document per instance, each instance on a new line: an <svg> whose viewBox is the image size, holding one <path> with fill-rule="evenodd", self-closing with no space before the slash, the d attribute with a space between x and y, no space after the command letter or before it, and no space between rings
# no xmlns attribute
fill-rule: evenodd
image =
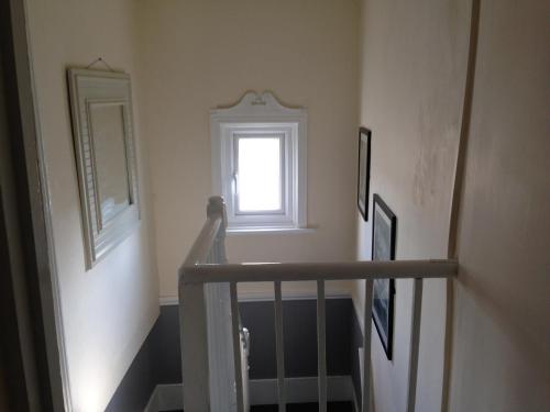
<svg viewBox="0 0 550 412"><path fill-rule="evenodd" d="M407 412L415 411L418 374L422 280L457 276L453 259L244 263L227 264L223 200L210 198L208 219L179 269L184 410L187 412L246 412L241 368L241 331L237 285L274 282L275 336L279 412L285 411L283 347L283 281L317 281L319 411L327 411L326 303L327 280L365 280L362 412L370 411L371 316L374 279L414 279ZM229 407L228 407L229 405Z"/></svg>

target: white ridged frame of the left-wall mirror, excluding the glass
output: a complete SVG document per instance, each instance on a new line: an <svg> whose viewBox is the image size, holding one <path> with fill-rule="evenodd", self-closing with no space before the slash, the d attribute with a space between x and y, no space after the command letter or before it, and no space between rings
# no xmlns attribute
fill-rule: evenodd
<svg viewBox="0 0 550 412"><path fill-rule="evenodd" d="M140 223L132 93L130 76L127 74L69 68L67 76L88 270L124 241ZM99 204L98 170L101 164L98 164L94 149L92 105L120 105L122 109L129 204L105 222Z"/></svg>

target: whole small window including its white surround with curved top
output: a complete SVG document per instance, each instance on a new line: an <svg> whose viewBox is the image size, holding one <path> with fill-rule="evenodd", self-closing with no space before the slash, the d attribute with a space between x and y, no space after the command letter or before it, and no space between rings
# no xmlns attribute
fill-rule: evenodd
<svg viewBox="0 0 550 412"><path fill-rule="evenodd" d="M211 112L213 192L230 231L306 226L306 113L249 92Z"/></svg>

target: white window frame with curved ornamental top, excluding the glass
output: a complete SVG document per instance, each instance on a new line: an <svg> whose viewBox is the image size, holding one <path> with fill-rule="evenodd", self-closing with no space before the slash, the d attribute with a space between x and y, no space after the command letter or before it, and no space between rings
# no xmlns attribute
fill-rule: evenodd
<svg viewBox="0 0 550 412"><path fill-rule="evenodd" d="M307 226L307 113L286 108L270 92L248 92L234 107L210 112L212 191L226 199L228 231L295 230ZM278 137L282 145L282 209L239 211L237 143L240 138Z"/></svg>

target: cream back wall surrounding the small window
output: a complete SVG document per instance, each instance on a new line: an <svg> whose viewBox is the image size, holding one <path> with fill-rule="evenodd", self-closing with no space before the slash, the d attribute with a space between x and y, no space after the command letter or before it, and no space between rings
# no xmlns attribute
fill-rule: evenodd
<svg viewBox="0 0 550 412"><path fill-rule="evenodd" d="M242 260L352 259L358 129L355 0L141 0L142 113L150 138L161 297L211 194L209 110L272 90L308 110L306 234L228 237ZM334 286L338 290L345 285ZM294 285L295 292L309 290ZM260 286L241 292L263 294Z"/></svg>

